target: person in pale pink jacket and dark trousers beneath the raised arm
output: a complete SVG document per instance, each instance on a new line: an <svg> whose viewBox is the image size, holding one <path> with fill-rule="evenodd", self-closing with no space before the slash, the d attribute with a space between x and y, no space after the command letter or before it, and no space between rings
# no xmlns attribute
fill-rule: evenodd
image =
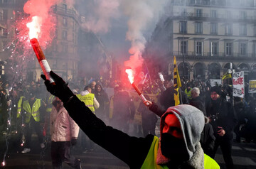
<svg viewBox="0 0 256 169"><path fill-rule="evenodd" d="M63 102L56 97L50 113L51 158L53 168L62 168L64 161L73 168L82 168L80 159L70 154L75 146L79 133L78 124L68 115Z"/></svg>

